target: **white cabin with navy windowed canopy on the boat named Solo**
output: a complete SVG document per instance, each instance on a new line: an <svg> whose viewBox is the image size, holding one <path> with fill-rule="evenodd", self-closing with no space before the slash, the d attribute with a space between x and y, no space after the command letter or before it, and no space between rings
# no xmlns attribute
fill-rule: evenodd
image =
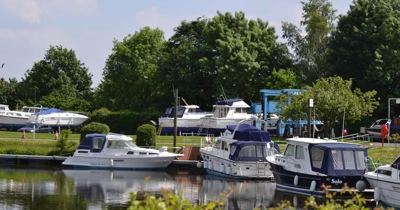
<svg viewBox="0 0 400 210"><path fill-rule="evenodd" d="M328 139L291 138L284 155L294 161L291 171L297 171L296 165L305 171L328 176L363 176L367 150L358 144L338 142ZM289 163L287 163L289 164ZM367 164L368 165L368 164ZM369 168L368 168L369 170Z"/></svg>

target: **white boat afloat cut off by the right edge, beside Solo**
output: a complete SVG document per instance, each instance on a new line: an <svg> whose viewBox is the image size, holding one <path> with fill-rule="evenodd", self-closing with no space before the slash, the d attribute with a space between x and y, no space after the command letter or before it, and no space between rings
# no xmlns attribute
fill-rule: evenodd
<svg viewBox="0 0 400 210"><path fill-rule="evenodd" d="M382 161L379 162L382 163ZM376 170L364 174L364 178L366 178L372 188L374 188L375 200L380 200L382 203L395 208L400 208L399 176L400 156L392 163L378 166Z"/></svg>

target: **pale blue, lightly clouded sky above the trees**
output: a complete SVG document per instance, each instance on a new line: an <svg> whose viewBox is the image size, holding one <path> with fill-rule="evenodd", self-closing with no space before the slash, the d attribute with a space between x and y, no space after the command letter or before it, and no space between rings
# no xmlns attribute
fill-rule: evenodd
<svg viewBox="0 0 400 210"><path fill-rule="evenodd" d="M352 0L331 0L337 14L346 14ZM122 40L144 26L160 28L168 39L181 20L212 18L243 11L275 26L282 39L281 21L299 24L299 0L0 0L0 78L22 80L50 45L74 49L98 86L114 38Z"/></svg>

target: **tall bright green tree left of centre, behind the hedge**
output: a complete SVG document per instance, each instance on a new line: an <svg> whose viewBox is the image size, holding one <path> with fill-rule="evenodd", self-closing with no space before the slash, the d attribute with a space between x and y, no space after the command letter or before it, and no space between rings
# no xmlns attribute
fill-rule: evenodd
<svg viewBox="0 0 400 210"><path fill-rule="evenodd" d="M108 56L103 82L96 93L96 103L112 110L142 111L154 106L158 94L158 60L164 32L146 26L122 41L114 40Z"/></svg>

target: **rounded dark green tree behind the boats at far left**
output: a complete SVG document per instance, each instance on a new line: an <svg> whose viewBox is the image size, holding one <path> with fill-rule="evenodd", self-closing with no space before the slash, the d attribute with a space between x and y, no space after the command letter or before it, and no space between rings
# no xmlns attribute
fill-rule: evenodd
<svg viewBox="0 0 400 210"><path fill-rule="evenodd" d="M50 46L44 59L35 62L32 69L26 71L25 78L22 78L22 89L26 98L34 98L34 88L36 98L51 94L60 86L61 81L58 79L64 78L61 74L70 79L73 88L78 92L77 97L90 100L92 74L76 58L74 50L62 46Z"/></svg>

